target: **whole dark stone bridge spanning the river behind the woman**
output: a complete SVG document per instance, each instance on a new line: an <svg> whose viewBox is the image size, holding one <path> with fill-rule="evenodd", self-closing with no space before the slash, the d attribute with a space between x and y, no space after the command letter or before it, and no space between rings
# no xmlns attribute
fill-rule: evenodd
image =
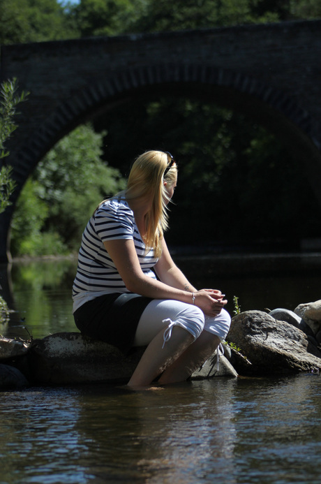
<svg viewBox="0 0 321 484"><path fill-rule="evenodd" d="M30 91L8 149L17 189L78 124L137 96L177 92L239 110L280 136L321 205L321 20L6 45L1 81Z"/></svg>

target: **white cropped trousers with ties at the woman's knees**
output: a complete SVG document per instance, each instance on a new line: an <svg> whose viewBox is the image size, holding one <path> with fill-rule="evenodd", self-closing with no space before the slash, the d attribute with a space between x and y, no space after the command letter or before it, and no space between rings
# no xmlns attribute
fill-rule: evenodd
<svg viewBox="0 0 321 484"><path fill-rule="evenodd" d="M172 328L180 326L193 335L211 332L223 341L230 330L230 314L221 310L218 316L204 316L202 309L186 302L155 299L144 309L135 333L133 346L147 346L160 330L164 329L164 344L170 338Z"/></svg>

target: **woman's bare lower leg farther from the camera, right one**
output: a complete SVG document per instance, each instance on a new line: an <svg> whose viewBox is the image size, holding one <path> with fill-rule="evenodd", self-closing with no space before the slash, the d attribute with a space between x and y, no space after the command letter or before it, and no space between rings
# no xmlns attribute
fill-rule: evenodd
<svg viewBox="0 0 321 484"><path fill-rule="evenodd" d="M218 336L208 331L202 331L195 342L188 346L172 365L167 366L158 382L165 384L187 380L195 369L200 368L214 353L220 342Z"/></svg>

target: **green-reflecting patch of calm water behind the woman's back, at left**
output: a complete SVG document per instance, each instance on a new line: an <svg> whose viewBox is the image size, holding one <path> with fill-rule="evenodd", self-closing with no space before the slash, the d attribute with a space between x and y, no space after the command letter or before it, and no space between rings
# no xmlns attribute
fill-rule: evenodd
<svg viewBox="0 0 321 484"><path fill-rule="evenodd" d="M75 258L29 261L1 267L1 295L9 308L7 337L40 338L75 331L71 287Z"/></svg>

